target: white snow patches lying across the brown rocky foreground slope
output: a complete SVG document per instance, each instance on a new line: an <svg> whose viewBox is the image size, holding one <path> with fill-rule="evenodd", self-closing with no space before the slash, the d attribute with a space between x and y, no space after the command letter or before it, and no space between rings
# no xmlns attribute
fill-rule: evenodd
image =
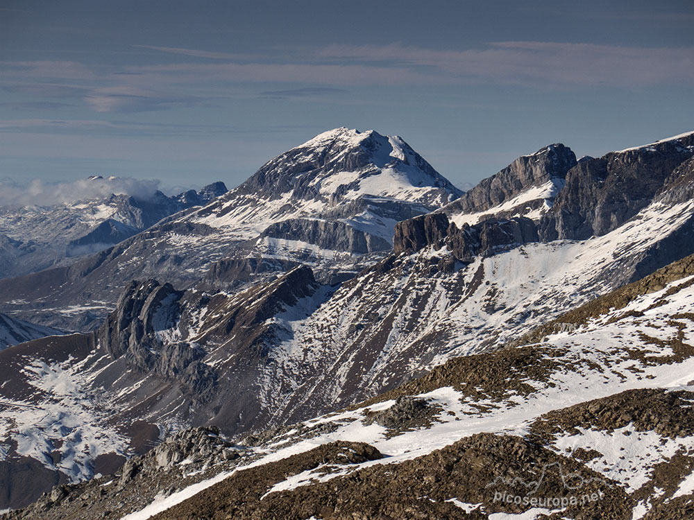
<svg viewBox="0 0 694 520"><path fill-rule="evenodd" d="M545 338L543 343L537 345L538 348L561 351L564 354L557 357L556 354L548 352L545 359L555 363L552 372L544 380L527 381L534 386L534 391L527 396L509 395L507 399L489 399L485 402L480 399L472 400L466 392L452 387L439 388L416 396L441 407L436 422L432 426L404 431L395 436L387 435L387 428L378 424L368 424L366 421L367 413L386 410L393 406L393 400L330 414L304 424L309 428L325 423L338 425L334 432L315 435L305 440L294 440L293 432L289 431L280 435L273 444L257 449L262 456L251 465L238 467L235 471L281 460L336 440L366 442L387 456L382 460L364 462L356 466L333 468L329 474L325 474L323 467L297 474L285 482L274 485L268 493L296 489L302 485L310 485L312 479L325 480L349 471L358 471L369 465L396 465L405 460L412 460L475 433L525 436L529 434L529 428L536 419L552 410L609 397L625 390L694 390L694 386L688 386L684 382L694 380L694 358L675 361L676 352L672 348L654 345L649 339L657 337L672 342L679 337L684 343L694 345L694 318L673 318L694 311L694 284L691 283L693 280L694 277L687 277L674 281L661 291L638 297L625 308L600 315L575 331L556 333ZM684 338L678 336L680 331L685 331ZM657 336L653 336L654 333ZM634 356L633 352L638 352L644 357L640 359ZM654 363L653 359L661 361ZM581 391L577 392L576 389ZM480 411L480 405L484 404L489 405L489 408ZM663 437L654 431L637 431L634 426L629 425L614 431L579 428L579 433L558 435L557 440L552 443L552 449L558 453L573 452L579 448L598 451L600 456L589 461L589 467L621 483L627 492L634 492L648 483L652 469L659 462L669 460L681 449L694 449L694 436ZM182 489L124 519L149 518L156 512L189 499L190 496L227 478L230 474L219 474ZM688 476L682 481L675 496L691 494L693 490L694 478ZM461 503L461 507L474 508L477 505ZM642 509L643 505L637 506L637 517ZM495 513L489 518L534 519L542 512L547 511L529 510L523 515Z"/></svg>

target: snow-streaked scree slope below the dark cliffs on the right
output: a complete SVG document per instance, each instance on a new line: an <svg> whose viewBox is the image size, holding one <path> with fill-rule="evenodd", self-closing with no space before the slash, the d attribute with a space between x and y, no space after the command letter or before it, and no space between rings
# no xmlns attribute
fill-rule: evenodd
<svg viewBox="0 0 694 520"><path fill-rule="evenodd" d="M655 202L607 235L526 244L467 266L451 264L445 248L403 254L343 284L310 315L278 320L285 339L264 368L265 406L277 417L300 418L307 408L347 405L451 356L513 340L628 281L636 260L691 230L693 216L692 200ZM270 382L307 372L316 375L296 377L291 396Z"/></svg>

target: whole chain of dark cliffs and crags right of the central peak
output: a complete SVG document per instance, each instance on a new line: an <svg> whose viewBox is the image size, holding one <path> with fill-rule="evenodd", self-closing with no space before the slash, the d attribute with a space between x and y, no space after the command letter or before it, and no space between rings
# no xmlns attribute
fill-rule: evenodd
<svg viewBox="0 0 694 520"><path fill-rule="evenodd" d="M479 211L502 202L505 193L517 193L528 183L565 175L566 184L539 223L527 218L490 218L457 229L455 225L448 227L448 220L440 218L443 213L430 214L398 223L394 249L400 253L418 251L428 245L440 247L445 236L457 259L471 261L475 254L492 254L516 243L584 240L607 234L656 199L673 204L691 198L694 195L692 157L694 135L613 152L598 159L586 157L578 164L568 148L552 145L516 159L508 168L480 182L443 209L446 214ZM676 259L666 255L662 262ZM642 271L639 274L643 275Z"/></svg>

